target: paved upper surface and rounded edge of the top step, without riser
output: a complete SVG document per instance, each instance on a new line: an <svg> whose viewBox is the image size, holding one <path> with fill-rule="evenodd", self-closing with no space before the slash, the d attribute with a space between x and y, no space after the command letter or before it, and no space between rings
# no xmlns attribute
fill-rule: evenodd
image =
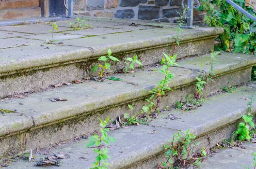
<svg viewBox="0 0 256 169"><path fill-rule="evenodd" d="M56 45L46 44L45 35L51 39L48 29L52 27L49 25L34 24L0 27L0 31L21 33L20 36L17 35L15 38L0 40L3 41L0 45L0 75L10 74L18 70L31 68L36 70L54 67L56 64L76 63L88 58L106 55L109 48L112 49L113 53L120 53L139 49L144 50L161 45L166 46L168 43L175 42L174 37L177 31L177 28L167 26L163 28L141 26L146 28L134 30L133 27L126 25L124 21L118 28L105 28L105 26L104 28L70 31L71 28L65 27L66 22L70 21L59 22L61 25L59 27L60 33L55 33L54 35L58 40ZM64 23L63 26L61 23ZM99 24L102 25L102 21ZM222 28L188 29L181 32L182 41L180 43L217 36L222 32ZM23 35L24 33L27 33L27 35ZM86 37L93 34L98 36ZM82 38L82 36L85 36L85 38ZM58 44L60 41L63 42L62 45ZM40 46L42 44L45 47ZM49 49L45 49L47 46ZM10 47L12 48L11 53L10 49L5 49Z"/></svg>

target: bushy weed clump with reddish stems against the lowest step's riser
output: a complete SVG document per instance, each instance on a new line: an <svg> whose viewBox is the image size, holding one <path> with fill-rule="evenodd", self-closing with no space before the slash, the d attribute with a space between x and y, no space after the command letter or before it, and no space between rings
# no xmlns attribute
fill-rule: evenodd
<svg viewBox="0 0 256 169"><path fill-rule="evenodd" d="M190 130L177 132L173 135L169 145L165 145L165 155L167 160L162 162L157 169L179 169L184 168L191 163L195 167L200 166L201 157L206 155L205 148L199 155L194 154L194 148L199 142L194 141L195 136L191 134Z"/></svg>

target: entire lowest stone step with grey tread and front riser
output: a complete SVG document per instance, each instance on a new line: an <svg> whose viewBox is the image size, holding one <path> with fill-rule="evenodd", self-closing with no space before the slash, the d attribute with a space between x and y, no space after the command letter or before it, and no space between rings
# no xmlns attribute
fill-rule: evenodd
<svg viewBox="0 0 256 169"><path fill-rule="evenodd" d="M130 126L109 132L109 136L117 140L108 148L112 157L109 160L109 169L156 169L158 164L166 160L163 146L169 144L177 131L191 129L196 140L200 142L195 151L200 151L201 147L214 147L216 143L232 135L241 116L246 113L248 97L254 93L256 93L256 83L247 84L239 87L235 93L221 93L210 97L195 110L185 113L178 110L165 111L149 125ZM254 113L255 108L254 102L252 109ZM168 120L166 117L169 114L181 119ZM53 149L34 153L35 161L62 152L70 155L70 158L61 161L62 169L89 169L96 155L93 153L93 148L86 148L87 142L87 139L67 142ZM218 160L218 163L220 161ZM35 162L20 160L10 164L9 168L34 169L34 164ZM211 163L210 169L212 165L215 166L215 163ZM220 165L216 164L216 166ZM48 168L55 169L52 166Z"/></svg>

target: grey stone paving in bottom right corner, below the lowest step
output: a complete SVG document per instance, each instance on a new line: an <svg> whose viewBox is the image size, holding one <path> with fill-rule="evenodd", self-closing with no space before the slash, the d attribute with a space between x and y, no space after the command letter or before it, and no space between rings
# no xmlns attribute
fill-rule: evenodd
<svg viewBox="0 0 256 169"><path fill-rule="evenodd" d="M243 169L244 166L249 169L254 169L252 166L254 156L251 153L256 153L256 144L245 142L243 146L246 149L239 147L226 148L212 154L203 163L201 169Z"/></svg>

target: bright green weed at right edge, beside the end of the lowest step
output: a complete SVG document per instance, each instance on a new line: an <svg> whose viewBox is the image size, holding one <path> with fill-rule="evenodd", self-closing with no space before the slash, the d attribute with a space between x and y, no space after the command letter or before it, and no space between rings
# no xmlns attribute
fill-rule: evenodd
<svg viewBox="0 0 256 169"><path fill-rule="evenodd" d="M247 113L242 115L242 119L244 122L240 122L238 125L238 129L235 131L235 138L237 138L240 141L250 141L251 140L251 133L252 130L255 129L255 124L253 122L253 115L252 113L252 103L256 100L255 95L252 97L249 97L250 101L247 104Z"/></svg>

